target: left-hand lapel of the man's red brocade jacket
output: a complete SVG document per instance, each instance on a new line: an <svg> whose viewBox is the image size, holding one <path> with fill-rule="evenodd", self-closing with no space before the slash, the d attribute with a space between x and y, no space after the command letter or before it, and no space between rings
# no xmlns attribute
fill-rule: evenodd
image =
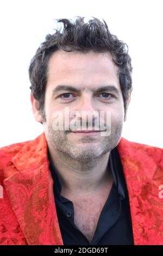
<svg viewBox="0 0 163 256"><path fill-rule="evenodd" d="M12 209L29 245L63 245L44 133L12 158L15 172L4 180Z"/></svg>

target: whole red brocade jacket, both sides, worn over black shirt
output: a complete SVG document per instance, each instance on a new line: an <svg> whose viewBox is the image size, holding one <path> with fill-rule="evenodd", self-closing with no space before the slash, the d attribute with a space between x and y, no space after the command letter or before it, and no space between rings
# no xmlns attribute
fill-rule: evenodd
<svg viewBox="0 0 163 256"><path fill-rule="evenodd" d="M117 149L129 193L134 244L163 245L163 149L123 137ZM63 245L44 133L0 149L0 184L0 245Z"/></svg>

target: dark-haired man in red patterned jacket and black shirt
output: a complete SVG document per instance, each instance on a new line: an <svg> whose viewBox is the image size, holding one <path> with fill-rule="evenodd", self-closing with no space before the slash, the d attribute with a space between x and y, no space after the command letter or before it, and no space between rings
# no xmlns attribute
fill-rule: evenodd
<svg viewBox="0 0 163 256"><path fill-rule="evenodd" d="M29 66L44 132L0 150L0 243L161 245L163 150L121 137L132 90L127 45L104 20L58 22L63 31L46 36Z"/></svg>

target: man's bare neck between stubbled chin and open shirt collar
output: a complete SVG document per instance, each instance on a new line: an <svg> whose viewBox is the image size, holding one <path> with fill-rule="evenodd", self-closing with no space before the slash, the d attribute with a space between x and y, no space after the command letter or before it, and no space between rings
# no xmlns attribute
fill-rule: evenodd
<svg viewBox="0 0 163 256"><path fill-rule="evenodd" d="M108 168L110 152L89 162L79 162L51 148L49 153L65 193L91 195L112 183L112 174Z"/></svg>

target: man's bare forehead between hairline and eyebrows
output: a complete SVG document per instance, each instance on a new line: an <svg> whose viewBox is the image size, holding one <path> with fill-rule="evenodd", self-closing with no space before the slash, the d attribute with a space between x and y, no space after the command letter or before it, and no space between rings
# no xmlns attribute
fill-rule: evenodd
<svg viewBox="0 0 163 256"><path fill-rule="evenodd" d="M57 51L49 59L47 87L60 83L96 87L100 84L118 83L118 68L109 52L81 53Z"/></svg>

